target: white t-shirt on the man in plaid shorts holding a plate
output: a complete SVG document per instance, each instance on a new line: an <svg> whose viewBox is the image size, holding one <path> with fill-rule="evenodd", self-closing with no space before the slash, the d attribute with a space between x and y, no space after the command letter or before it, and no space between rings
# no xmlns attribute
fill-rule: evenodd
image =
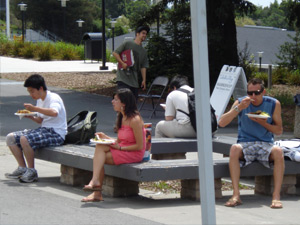
<svg viewBox="0 0 300 225"><path fill-rule="evenodd" d="M44 114L38 113L38 117L43 118L42 127L53 128L56 133L58 133L63 139L67 134L67 116L66 109L63 100L56 93L47 91L45 100L37 100L37 107L54 109L57 112L56 117L46 116Z"/></svg>

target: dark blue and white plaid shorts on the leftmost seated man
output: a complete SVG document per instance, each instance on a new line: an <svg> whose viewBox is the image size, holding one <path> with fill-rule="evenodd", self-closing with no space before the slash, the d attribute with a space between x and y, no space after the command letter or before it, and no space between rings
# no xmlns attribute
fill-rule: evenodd
<svg viewBox="0 0 300 225"><path fill-rule="evenodd" d="M64 143L64 139L53 128L48 127L14 132L16 144L22 149L20 144L21 136L26 137L33 150L47 146L58 146Z"/></svg>

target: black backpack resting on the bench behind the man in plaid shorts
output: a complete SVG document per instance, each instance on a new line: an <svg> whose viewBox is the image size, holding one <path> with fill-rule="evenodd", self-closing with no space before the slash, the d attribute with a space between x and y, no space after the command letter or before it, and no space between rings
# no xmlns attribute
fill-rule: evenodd
<svg viewBox="0 0 300 225"><path fill-rule="evenodd" d="M68 134L65 144L84 144L95 137L98 124L97 112L81 111L68 119Z"/></svg>

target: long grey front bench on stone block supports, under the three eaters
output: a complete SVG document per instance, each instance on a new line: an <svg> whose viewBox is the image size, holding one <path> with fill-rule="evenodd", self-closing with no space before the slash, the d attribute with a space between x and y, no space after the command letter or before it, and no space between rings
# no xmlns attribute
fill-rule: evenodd
<svg viewBox="0 0 300 225"><path fill-rule="evenodd" d="M226 143L226 142L225 142ZM155 146L155 144L154 144ZM153 146L152 146L153 147ZM227 146L228 147L228 146ZM155 149L155 148L153 148ZM36 151L35 157L61 164L61 182L83 185L91 179L94 147L88 145L63 145ZM259 163L242 168L241 177L256 176L255 192L271 194L272 170ZM197 160L150 160L143 163L118 166L105 165L103 193L108 196L132 196L139 193L139 182L181 180L181 197L199 200L199 174ZM297 174L300 164L286 161L283 194L296 194ZM228 158L214 160L216 198L222 197L221 178L229 177Z"/></svg>

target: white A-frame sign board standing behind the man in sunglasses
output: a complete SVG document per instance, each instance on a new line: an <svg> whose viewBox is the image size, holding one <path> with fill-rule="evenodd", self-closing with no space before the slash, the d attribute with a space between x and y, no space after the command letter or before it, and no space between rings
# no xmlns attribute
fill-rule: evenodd
<svg viewBox="0 0 300 225"><path fill-rule="evenodd" d="M247 79L243 68L224 65L210 97L210 104L216 110L217 120L219 121L224 113L232 95L237 99L246 94Z"/></svg>

